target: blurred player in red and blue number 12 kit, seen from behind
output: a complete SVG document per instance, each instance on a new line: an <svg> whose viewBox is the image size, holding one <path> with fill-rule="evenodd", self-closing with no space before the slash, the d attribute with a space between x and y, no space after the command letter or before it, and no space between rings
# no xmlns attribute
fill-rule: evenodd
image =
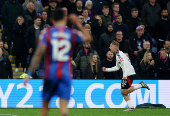
<svg viewBox="0 0 170 116"><path fill-rule="evenodd" d="M56 9L51 15L54 26L48 28L40 35L38 48L33 56L27 74L32 76L37 64L46 53L46 69L43 85L43 107L41 116L48 115L48 105L52 96L60 98L60 115L68 116L67 103L71 93L71 67L70 55L74 51L76 42L91 41L91 36L77 21L77 16L71 14L69 19L80 32L66 27L67 19L62 9ZM25 78L24 85L29 80Z"/></svg>

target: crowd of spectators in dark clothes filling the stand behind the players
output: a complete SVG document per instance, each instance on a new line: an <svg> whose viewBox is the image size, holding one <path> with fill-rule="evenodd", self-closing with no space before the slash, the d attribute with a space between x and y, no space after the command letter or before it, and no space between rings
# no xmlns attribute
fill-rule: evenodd
<svg viewBox="0 0 170 116"><path fill-rule="evenodd" d="M76 44L72 55L74 79L121 79L123 72L103 72L116 65L109 50L120 44L138 75L136 79L170 79L170 0L2 0L0 79L13 78L9 55L26 72L42 30L52 26L50 14L63 9L78 16L93 41ZM2 26L1 26L2 27ZM67 27L79 31L68 20ZM6 44L7 43L7 44ZM33 78L42 78L44 57Z"/></svg>

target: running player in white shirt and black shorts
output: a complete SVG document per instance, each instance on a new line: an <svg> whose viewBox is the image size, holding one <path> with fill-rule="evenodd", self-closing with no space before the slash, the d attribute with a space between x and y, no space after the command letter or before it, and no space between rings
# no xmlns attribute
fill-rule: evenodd
<svg viewBox="0 0 170 116"><path fill-rule="evenodd" d="M121 82L121 94L123 95L129 107L124 111L135 111L135 108L132 106L132 102L128 94L139 88L147 88L148 90L150 90L150 88L143 81L135 86L131 86L133 79L136 77L136 73L133 66L131 65L129 58L126 56L126 54L119 50L118 42L113 40L109 48L111 52L116 54L116 66L112 68L103 67L103 71L112 72L119 70L120 67L122 68L123 78Z"/></svg>

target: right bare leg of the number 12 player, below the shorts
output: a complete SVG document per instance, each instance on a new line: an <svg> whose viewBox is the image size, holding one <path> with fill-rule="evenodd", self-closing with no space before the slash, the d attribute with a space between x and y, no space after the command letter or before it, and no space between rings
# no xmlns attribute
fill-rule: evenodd
<svg viewBox="0 0 170 116"><path fill-rule="evenodd" d="M60 115L68 116L67 100L60 98Z"/></svg>

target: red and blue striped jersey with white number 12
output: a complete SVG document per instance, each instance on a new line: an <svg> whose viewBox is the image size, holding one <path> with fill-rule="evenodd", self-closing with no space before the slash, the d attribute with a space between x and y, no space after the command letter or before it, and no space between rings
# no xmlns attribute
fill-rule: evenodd
<svg viewBox="0 0 170 116"><path fill-rule="evenodd" d="M83 34L63 26L50 27L40 34L39 44L47 48L46 79L71 78L70 56L76 42L83 42Z"/></svg>

